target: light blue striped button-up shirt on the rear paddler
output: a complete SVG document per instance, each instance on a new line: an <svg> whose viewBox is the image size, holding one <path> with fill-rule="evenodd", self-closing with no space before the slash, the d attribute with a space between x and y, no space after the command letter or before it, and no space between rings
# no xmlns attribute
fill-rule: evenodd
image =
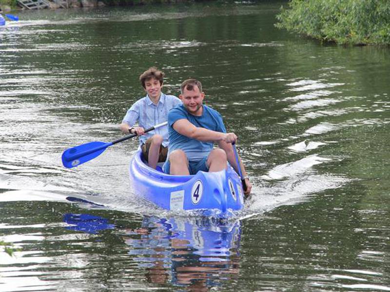
<svg viewBox="0 0 390 292"><path fill-rule="evenodd" d="M174 95L167 95L161 92L160 100L155 105L148 95L137 100L127 111L122 123L130 127L138 121L139 127L144 129L151 128L157 124L167 121L168 111L181 104L181 100ZM162 146L168 146L168 127L163 126L153 131L139 136L139 145L145 144L146 140L154 134L160 134L163 137Z"/></svg>

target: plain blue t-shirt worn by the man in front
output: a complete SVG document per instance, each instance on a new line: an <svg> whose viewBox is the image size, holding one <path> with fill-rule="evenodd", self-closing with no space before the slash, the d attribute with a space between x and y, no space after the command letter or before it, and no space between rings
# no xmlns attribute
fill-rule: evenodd
<svg viewBox="0 0 390 292"><path fill-rule="evenodd" d="M168 112L168 155L173 150L181 149L186 153L188 160L200 161L204 157L208 156L210 151L213 150L213 142L198 141L176 132L172 126L177 120L180 119L188 120L195 127L226 133L226 128L223 124L222 117L216 110L203 105L203 113L198 117L190 114L183 105L178 105Z"/></svg>

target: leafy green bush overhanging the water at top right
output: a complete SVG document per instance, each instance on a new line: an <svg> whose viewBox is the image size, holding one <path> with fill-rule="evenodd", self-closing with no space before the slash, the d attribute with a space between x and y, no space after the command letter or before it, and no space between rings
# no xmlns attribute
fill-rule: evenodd
<svg viewBox="0 0 390 292"><path fill-rule="evenodd" d="M278 28L339 44L390 45L389 0L291 0Z"/></svg>

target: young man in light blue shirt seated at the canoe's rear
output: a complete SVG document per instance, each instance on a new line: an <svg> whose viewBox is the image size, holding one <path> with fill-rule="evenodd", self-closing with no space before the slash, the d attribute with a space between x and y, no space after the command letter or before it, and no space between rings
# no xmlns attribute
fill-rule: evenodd
<svg viewBox="0 0 390 292"><path fill-rule="evenodd" d="M165 162L168 153L168 129L156 128L145 133L145 128L151 128L167 121L168 111L181 104L174 95L161 92L164 73L156 67L151 67L139 76L139 81L146 91L146 96L137 100L127 111L120 129L125 133L136 133L143 157L149 166L156 169L158 162ZM133 125L138 121L138 126ZM152 134L155 132L156 134Z"/></svg>

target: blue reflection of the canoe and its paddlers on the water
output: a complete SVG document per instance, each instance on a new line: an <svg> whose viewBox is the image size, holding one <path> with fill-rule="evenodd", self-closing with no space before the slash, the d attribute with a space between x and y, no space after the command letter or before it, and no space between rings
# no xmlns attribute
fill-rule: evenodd
<svg viewBox="0 0 390 292"><path fill-rule="evenodd" d="M125 242L150 282L208 291L237 277L240 234L239 220L145 217Z"/></svg>

